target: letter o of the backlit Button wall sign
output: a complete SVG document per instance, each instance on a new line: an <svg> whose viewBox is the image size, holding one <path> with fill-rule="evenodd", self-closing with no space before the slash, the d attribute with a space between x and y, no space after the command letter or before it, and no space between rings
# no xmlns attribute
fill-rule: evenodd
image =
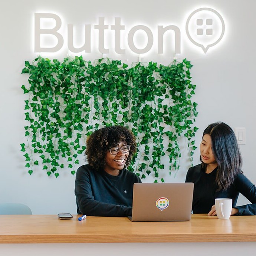
<svg viewBox="0 0 256 256"><path fill-rule="evenodd" d="M148 43L147 43L147 46L144 49L138 49L134 45L133 38L134 38L134 34L137 30L144 30L146 32L147 36L148 36ZM132 50L132 52L134 52L134 53L141 54L141 53L148 52L151 49L152 45L153 45L153 40L154 40L153 39L153 33L150 30L150 28L147 27L147 26L143 26L143 25L134 26L134 27L132 27L132 29L128 33L128 45L129 45L130 49Z"/></svg>

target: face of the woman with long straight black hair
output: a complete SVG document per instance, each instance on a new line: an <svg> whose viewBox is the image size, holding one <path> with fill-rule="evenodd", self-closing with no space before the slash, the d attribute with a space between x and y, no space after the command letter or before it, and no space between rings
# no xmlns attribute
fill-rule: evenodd
<svg viewBox="0 0 256 256"><path fill-rule="evenodd" d="M209 134L204 134L202 138L200 144L200 155L203 163L212 165L213 168L218 166L211 148L211 136Z"/></svg>

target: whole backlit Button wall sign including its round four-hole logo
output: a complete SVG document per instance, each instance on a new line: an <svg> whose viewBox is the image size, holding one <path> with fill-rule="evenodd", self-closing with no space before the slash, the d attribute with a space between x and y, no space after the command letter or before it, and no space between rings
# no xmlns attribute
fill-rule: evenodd
<svg viewBox="0 0 256 256"><path fill-rule="evenodd" d="M188 39L206 53L209 47L216 45L221 40L224 35L224 27L223 18L218 12L210 8L201 8L192 12L188 17L186 33ZM58 52L64 46L73 53L91 53L92 34L97 34L98 50L102 54L107 54L109 48L105 46L105 32L110 32L109 30L114 32L114 50L118 54L125 54L126 51L121 47L122 32L127 34L129 50L137 54L149 52L155 39L148 26L136 25L127 31L125 25L121 23L120 17L115 17L115 22L111 25L105 23L105 17L99 17L98 24L84 25L84 30L80 33L83 35L82 43L80 42L78 47L75 46L77 40L74 40L73 24L68 24L63 30L62 19L57 14L35 13L35 52ZM138 33L144 34L146 42L144 45L135 40ZM181 31L175 25L157 26L157 53L164 53L164 36L167 33L171 33L174 52L181 53Z"/></svg>

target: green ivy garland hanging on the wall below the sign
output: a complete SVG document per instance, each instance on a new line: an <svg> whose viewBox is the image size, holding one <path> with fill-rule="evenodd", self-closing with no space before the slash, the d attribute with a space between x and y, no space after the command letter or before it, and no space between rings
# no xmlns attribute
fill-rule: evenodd
<svg viewBox="0 0 256 256"><path fill-rule="evenodd" d="M171 174L179 168L179 137L187 138L191 161L196 149L191 67L186 59L169 66L139 62L131 68L119 60L91 63L82 56L63 62L42 57L25 61L27 142L20 145L28 173L42 163L48 176L57 178L66 166L75 174L86 137L107 125L124 125L137 137L139 148L129 170L141 178L152 172L155 182L164 182L161 170ZM167 168L163 157L168 157Z"/></svg>

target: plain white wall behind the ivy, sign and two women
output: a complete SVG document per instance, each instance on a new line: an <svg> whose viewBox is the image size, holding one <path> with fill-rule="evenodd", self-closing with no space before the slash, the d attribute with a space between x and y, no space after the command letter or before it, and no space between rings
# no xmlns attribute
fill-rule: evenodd
<svg viewBox="0 0 256 256"><path fill-rule="evenodd" d="M221 42L206 54L193 45L186 36L185 23L191 12L201 7L210 7L224 18L226 32ZM64 170L56 179L47 177L43 171L27 174L20 143L24 138L24 99L20 87L27 84L27 76L21 75L24 61L32 61L37 53L33 51L34 13L56 13L63 24L97 24L104 16L106 23L113 24L114 17L128 28L144 24L156 30L157 25L176 25L181 30L181 54L178 60L187 58L194 67L192 81L197 85L193 100L198 103L199 115L196 125L196 144L200 143L203 129L215 121L224 121L232 128L246 128L246 145L241 145L243 171L256 183L254 157L255 134L255 8L254 0L8 0L1 3L0 10L0 202L27 204L33 214L76 213L74 178L70 170ZM156 39L155 39L156 42ZM127 54L117 55L111 49L106 57L132 63L138 56L127 47ZM42 54L62 60L67 49L59 53ZM96 47L85 59L98 59L102 54ZM173 60L173 49L157 55L154 45L151 52L141 56L142 62L154 61L168 65ZM194 157L198 163L199 152ZM82 158L81 158L82 159ZM184 181L189 163L181 160L181 168L167 181ZM150 181L150 179L148 179ZM243 203L243 198L240 199Z"/></svg>

